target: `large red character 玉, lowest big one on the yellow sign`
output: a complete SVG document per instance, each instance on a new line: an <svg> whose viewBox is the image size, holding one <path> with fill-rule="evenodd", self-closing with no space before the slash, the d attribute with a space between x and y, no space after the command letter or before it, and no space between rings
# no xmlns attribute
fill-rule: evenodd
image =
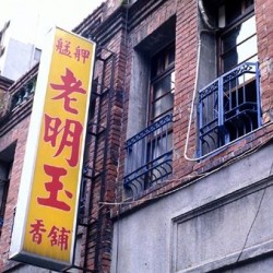
<svg viewBox="0 0 273 273"><path fill-rule="evenodd" d="M62 211L70 211L71 207L63 201L58 200L59 191L63 190L63 183L60 181L61 176L67 175L64 168L44 165L45 173L52 178L51 181L45 182L45 188L49 192L48 198L37 198L37 201L41 205L51 206ZM64 190L66 195L71 199L73 194L70 191Z"/></svg>

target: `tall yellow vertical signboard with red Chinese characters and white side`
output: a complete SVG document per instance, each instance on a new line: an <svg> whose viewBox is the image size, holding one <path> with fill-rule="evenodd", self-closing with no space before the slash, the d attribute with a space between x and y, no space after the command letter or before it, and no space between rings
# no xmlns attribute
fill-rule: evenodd
<svg viewBox="0 0 273 273"><path fill-rule="evenodd" d="M60 28L43 50L13 228L15 260L55 270L72 262L94 54L94 43Z"/></svg>

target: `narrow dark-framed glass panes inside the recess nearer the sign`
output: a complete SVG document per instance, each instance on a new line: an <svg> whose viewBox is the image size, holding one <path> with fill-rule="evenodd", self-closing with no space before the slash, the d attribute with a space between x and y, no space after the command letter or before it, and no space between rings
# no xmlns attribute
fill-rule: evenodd
<svg viewBox="0 0 273 273"><path fill-rule="evenodd" d="M166 124L163 122L162 127L154 130L147 139L146 158L151 170L146 174L145 188L164 179L171 171L169 161L173 147L174 91L175 45L171 44L154 56L151 61L149 126L153 128L162 120L169 120L169 122ZM166 117L169 118L166 119Z"/></svg>

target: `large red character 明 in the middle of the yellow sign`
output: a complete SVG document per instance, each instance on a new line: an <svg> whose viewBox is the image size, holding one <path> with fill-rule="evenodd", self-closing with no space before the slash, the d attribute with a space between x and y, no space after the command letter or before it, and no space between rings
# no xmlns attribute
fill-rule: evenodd
<svg viewBox="0 0 273 273"><path fill-rule="evenodd" d="M61 120L59 118L52 118L45 115L45 142L50 142L55 147L57 144L57 138L61 134L59 141L59 147L55 156L61 154L66 146L71 147L70 158L67 158L69 166L74 167L79 161L80 140L82 135L83 127L76 120L67 119L63 127L61 127Z"/></svg>

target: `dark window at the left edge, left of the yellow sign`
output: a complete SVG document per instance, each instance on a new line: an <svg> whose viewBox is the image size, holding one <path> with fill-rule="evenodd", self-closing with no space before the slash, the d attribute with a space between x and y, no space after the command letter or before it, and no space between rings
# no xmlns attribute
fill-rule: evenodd
<svg viewBox="0 0 273 273"><path fill-rule="evenodd" d="M15 144L0 152L0 236L4 223L4 212L10 186Z"/></svg>

